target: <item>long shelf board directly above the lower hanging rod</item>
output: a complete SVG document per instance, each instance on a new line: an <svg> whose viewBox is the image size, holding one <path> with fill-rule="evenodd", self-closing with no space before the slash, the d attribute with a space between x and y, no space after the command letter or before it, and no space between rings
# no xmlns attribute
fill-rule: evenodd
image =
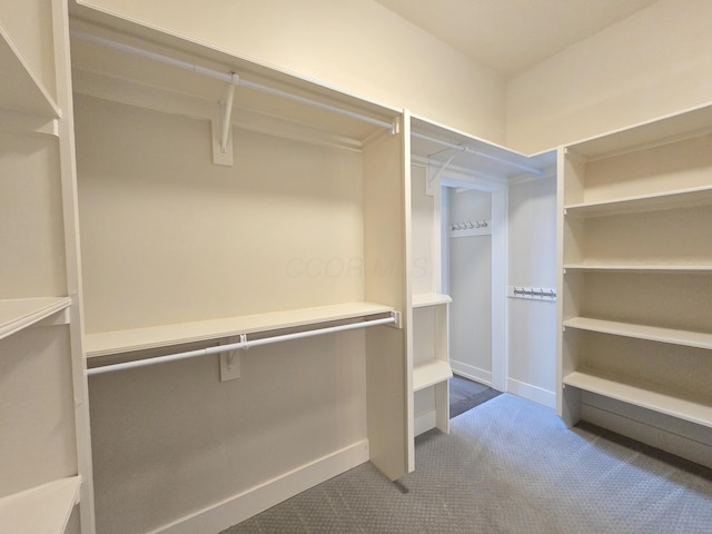
<svg viewBox="0 0 712 534"><path fill-rule="evenodd" d="M357 319L373 315L389 314L390 312L393 312L390 306L382 304L337 304L288 312L88 334L85 338L85 346L87 357L91 358L220 339L238 336L239 334L295 328L334 320Z"/></svg>

